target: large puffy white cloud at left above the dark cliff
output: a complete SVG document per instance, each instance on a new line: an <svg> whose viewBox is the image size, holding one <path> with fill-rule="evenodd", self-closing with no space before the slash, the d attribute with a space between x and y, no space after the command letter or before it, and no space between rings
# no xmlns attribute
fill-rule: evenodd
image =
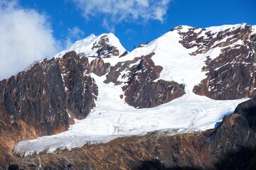
<svg viewBox="0 0 256 170"><path fill-rule="evenodd" d="M16 1L0 2L0 40L0 80L57 52L47 17Z"/></svg>

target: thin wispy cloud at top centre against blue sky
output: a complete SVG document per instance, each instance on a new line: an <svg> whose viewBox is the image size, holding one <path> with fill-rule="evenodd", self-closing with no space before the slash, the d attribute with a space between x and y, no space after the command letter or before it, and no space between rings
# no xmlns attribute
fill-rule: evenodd
<svg viewBox="0 0 256 170"><path fill-rule="evenodd" d="M114 30L120 22L164 22L171 0L71 0L89 20L102 17L102 26Z"/></svg>

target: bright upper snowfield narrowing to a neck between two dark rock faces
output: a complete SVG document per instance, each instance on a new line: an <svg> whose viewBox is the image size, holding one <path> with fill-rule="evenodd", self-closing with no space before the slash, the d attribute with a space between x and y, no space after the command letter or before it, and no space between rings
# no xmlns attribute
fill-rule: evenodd
<svg viewBox="0 0 256 170"><path fill-rule="evenodd" d="M186 26L183 26L183 29L186 29ZM180 40L181 35L178 34L178 30L170 31L129 55L148 55L154 52L155 55L152 57L154 64L164 68L159 79L185 84L186 93L190 93L193 86L206 78L206 72L201 71L206 56L191 57L189 54L195 48L186 49L181 45Z"/></svg>

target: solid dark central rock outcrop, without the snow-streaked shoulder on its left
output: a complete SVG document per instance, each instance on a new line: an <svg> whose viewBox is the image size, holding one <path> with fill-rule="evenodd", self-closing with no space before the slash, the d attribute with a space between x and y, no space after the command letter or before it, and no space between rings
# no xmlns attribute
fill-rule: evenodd
<svg viewBox="0 0 256 170"><path fill-rule="evenodd" d="M155 81L163 68L155 66L152 55L145 56L131 69L132 75L123 87L125 101L134 108L152 108L185 94L182 84L161 79Z"/></svg>

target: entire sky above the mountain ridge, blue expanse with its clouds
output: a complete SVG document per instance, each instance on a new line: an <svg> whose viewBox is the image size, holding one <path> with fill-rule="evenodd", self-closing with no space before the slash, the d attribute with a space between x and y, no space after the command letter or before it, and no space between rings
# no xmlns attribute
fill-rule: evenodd
<svg viewBox="0 0 256 170"><path fill-rule="evenodd" d="M91 33L127 50L180 25L256 25L255 0L0 0L0 79Z"/></svg>

